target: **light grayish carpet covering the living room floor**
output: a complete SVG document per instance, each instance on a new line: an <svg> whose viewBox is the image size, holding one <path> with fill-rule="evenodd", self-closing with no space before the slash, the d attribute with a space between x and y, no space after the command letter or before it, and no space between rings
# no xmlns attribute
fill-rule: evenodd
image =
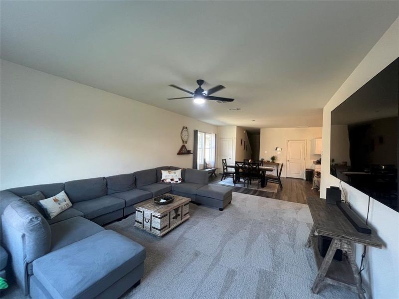
<svg viewBox="0 0 399 299"><path fill-rule="evenodd" d="M134 227L134 215L106 227L147 250L142 283L123 299L357 298L333 286L311 293L316 265L305 246L307 205L234 192L222 212L190 209L190 219L162 238Z"/></svg>

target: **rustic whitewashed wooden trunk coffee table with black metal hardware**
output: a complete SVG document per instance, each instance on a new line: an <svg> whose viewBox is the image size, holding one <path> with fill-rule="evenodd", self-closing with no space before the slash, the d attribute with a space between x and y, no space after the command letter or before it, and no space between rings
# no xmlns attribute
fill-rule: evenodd
<svg viewBox="0 0 399 299"><path fill-rule="evenodd" d="M175 197L173 202L165 205L156 204L153 198L135 204L135 226L162 237L189 219L189 203L191 199L179 195L172 196Z"/></svg>

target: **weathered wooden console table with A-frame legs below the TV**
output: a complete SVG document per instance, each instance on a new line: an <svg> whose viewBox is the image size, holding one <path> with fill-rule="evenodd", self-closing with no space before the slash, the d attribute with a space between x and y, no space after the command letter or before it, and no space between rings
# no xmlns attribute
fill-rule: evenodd
<svg viewBox="0 0 399 299"><path fill-rule="evenodd" d="M356 292L360 299L365 299L359 268L353 253L353 243L382 248L383 241L374 232L371 235L358 232L337 205L327 204L326 200L321 198L308 197L307 201L313 218L313 226L306 246L312 245L318 268L312 293L318 294L323 283L328 283ZM324 258L317 248L315 232L332 238ZM346 256L342 256L341 262L333 260L337 249L347 253Z"/></svg>

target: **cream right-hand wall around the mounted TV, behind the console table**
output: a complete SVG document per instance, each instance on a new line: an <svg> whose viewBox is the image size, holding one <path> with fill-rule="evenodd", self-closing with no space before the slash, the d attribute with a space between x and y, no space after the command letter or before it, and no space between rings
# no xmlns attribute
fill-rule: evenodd
<svg viewBox="0 0 399 299"><path fill-rule="evenodd" d="M331 111L355 91L377 75L399 57L399 18L392 24L373 49L338 89L324 107L323 112L323 157L321 175L321 197L325 198L326 187L338 186L338 179L330 175L330 115ZM366 219L368 196L343 183L347 199L361 217ZM384 240L383 249L368 248L365 270L362 272L368 298L399 298L399 213L372 199L369 224ZM360 263L362 246L356 247L356 260Z"/></svg>

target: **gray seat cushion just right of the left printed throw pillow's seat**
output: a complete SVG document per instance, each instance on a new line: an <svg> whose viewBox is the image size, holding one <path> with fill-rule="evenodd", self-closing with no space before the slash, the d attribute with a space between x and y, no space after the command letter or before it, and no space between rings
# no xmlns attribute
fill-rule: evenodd
<svg viewBox="0 0 399 299"><path fill-rule="evenodd" d="M111 195L105 195L91 200L77 202L73 207L81 211L87 219L114 212L125 207L125 201Z"/></svg>

